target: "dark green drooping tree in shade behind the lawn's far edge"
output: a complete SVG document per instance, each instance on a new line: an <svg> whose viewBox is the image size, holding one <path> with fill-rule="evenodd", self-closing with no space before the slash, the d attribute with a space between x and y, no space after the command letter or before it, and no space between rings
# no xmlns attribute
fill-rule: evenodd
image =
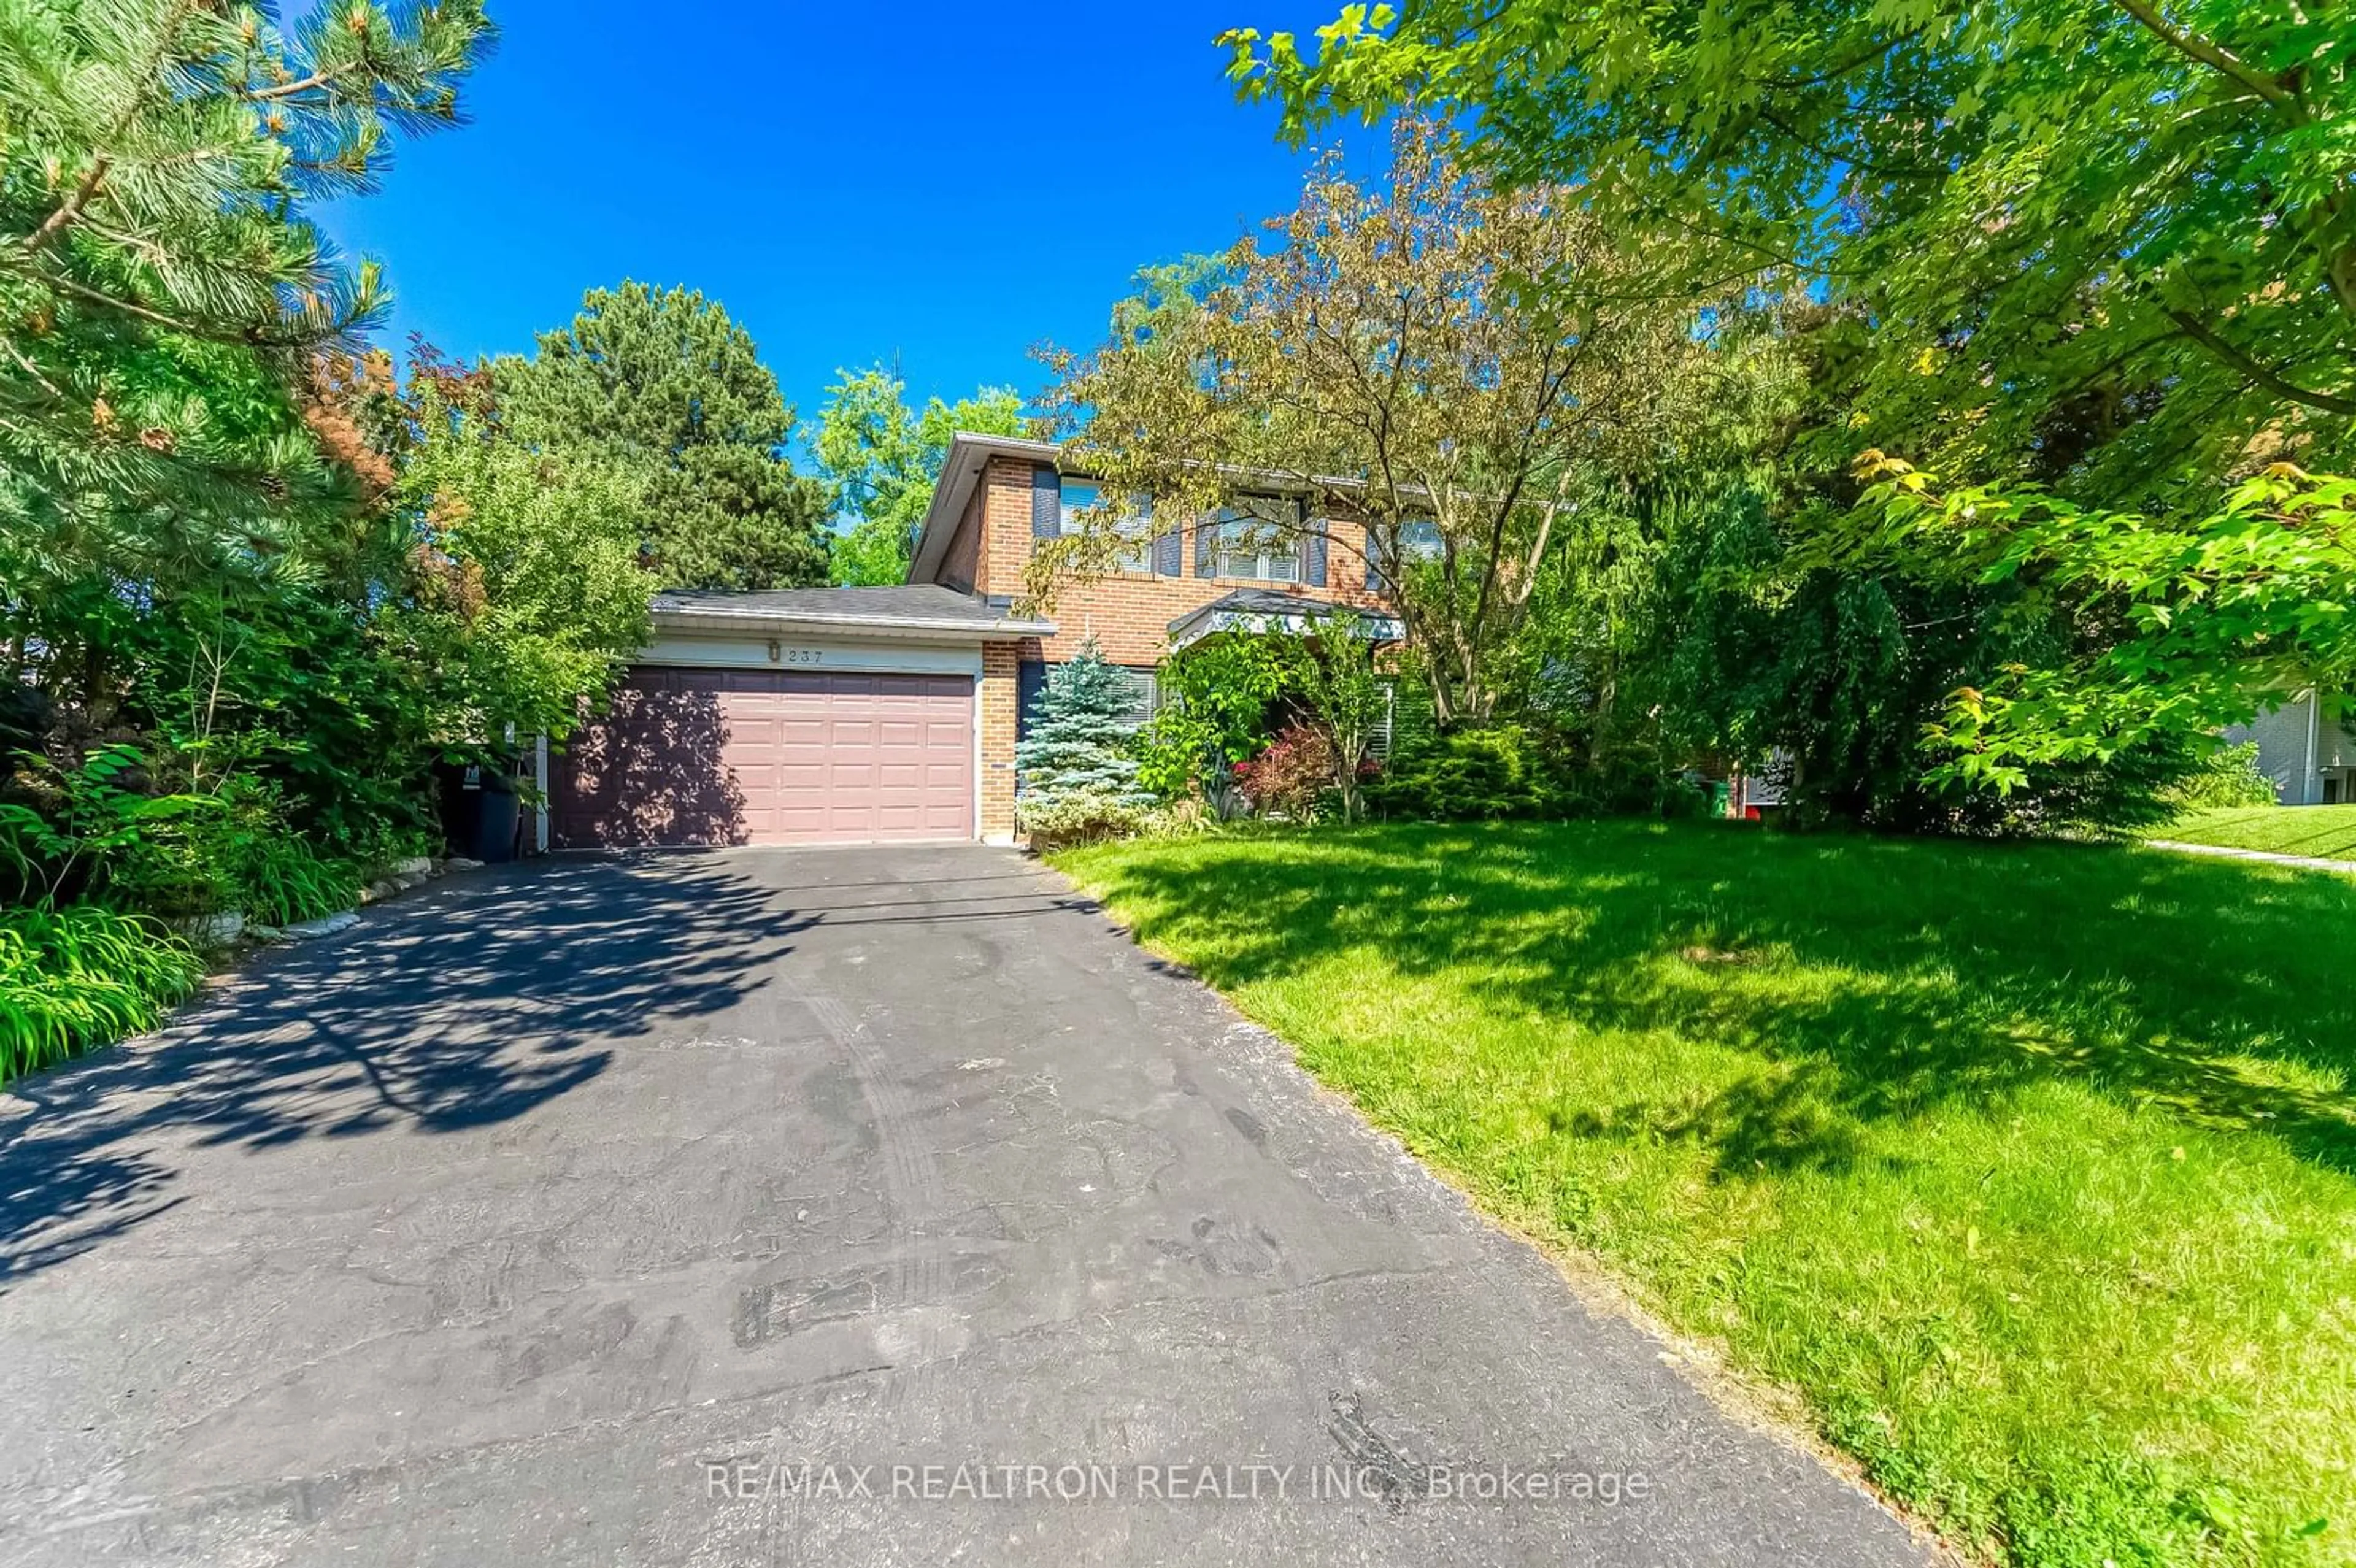
<svg viewBox="0 0 2356 1568"><path fill-rule="evenodd" d="M1623 589L1531 614L1531 716L1579 739L1604 798L1689 765L1774 775L1788 824L1915 833L2123 831L2208 739L2047 758L2010 791L1937 772L1958 687L2050 666L2102 631L2024 582L1828 560L1824 525L1779 520L1765 476L1687 476L1607 499L1630 520ZM1633 567L1633 570L1630 570ZM1670 793L1663 803L1675 803Z"/></svg>

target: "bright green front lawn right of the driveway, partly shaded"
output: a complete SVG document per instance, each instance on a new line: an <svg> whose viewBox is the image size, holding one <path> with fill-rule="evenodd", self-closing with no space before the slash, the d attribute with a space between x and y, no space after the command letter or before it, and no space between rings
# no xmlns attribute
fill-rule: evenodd
<svg viewBox="0 0 2356 1568"><path fill-rule="evenodd" d="M2356 1561L2344 878L1734 824L1055 864L1967 1549Z"/></svg>

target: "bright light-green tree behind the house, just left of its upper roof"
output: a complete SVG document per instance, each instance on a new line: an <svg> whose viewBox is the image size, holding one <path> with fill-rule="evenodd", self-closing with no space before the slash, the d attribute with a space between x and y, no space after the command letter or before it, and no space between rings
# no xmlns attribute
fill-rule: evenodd
<svg viewBox="0 0 2356 1568"><path fill-rule="evenodd" d="M1023 436L1023 398L985 386L971 398L928 398L909 410L907 384L884 370L836 372L818 414L818 466L827 506L843 532L834 537L834 582L886 586L907 582L909 551L933 483L959 431Z"/></svg>

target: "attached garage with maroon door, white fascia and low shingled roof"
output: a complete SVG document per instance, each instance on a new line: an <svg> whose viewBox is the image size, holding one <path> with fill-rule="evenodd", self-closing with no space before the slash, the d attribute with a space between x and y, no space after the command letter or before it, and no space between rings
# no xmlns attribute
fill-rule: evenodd
<svg viewBox="0 0 2356 1568"><path fill-rule="evenodd" d="M931 584L667 593L556 758L554 848L975 838L982 647L1037 626Z"/></svg>

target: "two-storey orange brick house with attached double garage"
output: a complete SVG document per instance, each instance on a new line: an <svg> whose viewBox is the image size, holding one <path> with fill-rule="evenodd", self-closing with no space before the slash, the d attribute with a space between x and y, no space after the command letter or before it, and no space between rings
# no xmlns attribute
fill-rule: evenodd
<svg viewBox="0 0 2356 1568"><path fill-rule="evenodd" d="M891 589L662 593L655 640L598 720L554 758L542 848L874 843L1015 833L1015 739L1046 671L1096 638L1131 671L1138 720L1171 647L1298 629L1319 605L1397 636L1364 530L1251 494L1190 518L1023 614L1039 539L1093 506L1058 447L957 436Z"/></svg>

